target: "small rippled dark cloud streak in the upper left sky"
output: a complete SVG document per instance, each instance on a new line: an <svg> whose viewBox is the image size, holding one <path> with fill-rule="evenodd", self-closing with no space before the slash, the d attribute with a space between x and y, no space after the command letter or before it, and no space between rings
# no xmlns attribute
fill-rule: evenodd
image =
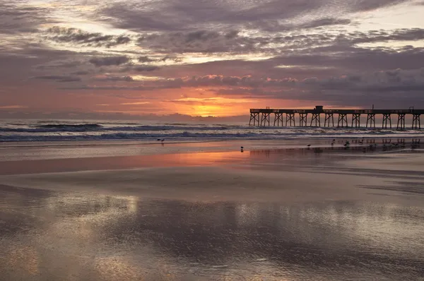
<svg viewBox="0 0 424 281"><path fill-rule="evenodd" d="M94 47L114 47L131 42L131 38L126 35L104 35L102 33L90 33L76 28L61 28L55 26L46 31L49 40L59 43L83 44Z"/></svg>

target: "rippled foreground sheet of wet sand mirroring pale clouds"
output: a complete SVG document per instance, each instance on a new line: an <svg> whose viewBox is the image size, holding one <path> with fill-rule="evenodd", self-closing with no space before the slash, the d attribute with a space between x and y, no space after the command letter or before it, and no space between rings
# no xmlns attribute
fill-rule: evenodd
<svg viewBox="0 0 424 281"><path fill-rule="evenodd" d="M1 189L4 280L418 280L424 208Z"/></svg>

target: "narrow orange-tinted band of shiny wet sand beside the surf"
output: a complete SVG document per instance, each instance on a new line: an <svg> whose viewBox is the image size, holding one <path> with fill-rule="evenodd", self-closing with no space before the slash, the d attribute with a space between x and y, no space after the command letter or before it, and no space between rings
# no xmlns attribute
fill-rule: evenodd
<svg viewBox="0 0 424 281"><path fill-rule="evenodd" d="M47 172L77 172L88 170L105 169L134 169L142 167L204 167L218 165L245 165L264 158L278 160L279 164L287 164L288 160L295 161L299 165L328 164L331 157L347 157L351 159L360 155L379 155L381 153L420 153L420 144L411 143L412 140L351 140L349 146L343 146L345 140L337 140L336 146L330 146L331 140L316 140L316 147L307 148L263 148L251 149L245 147L240 150L225 152L196 152L196 153L172 153L160 155L132 155L111 157L83 157L74 155L64 159L44 160L19 160L0 162L0 175L6 174L38 174ZM362 141L363 143L358 143ZM415 140L413 140L415 141ZM377 144L378 143L378 144ZM396 145L400 144L400 145ZM208 145L216 145L215 143ZM377 145L377 146L375 146ZM265 146L265 145L264 145ZM261 164L259 163L259 164ZM257 163L255 163L257 164ZM289 166L293 166L290 163Z"/></svg>

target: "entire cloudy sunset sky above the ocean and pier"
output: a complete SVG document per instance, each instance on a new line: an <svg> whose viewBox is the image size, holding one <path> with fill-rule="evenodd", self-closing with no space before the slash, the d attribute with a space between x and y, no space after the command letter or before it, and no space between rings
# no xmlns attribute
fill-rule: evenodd
<svg viewBox="0 0 424 281"><path fill-rule="evenodd" d="M424 108L423 15L423 0L0 0L0 117Z"/></svg>

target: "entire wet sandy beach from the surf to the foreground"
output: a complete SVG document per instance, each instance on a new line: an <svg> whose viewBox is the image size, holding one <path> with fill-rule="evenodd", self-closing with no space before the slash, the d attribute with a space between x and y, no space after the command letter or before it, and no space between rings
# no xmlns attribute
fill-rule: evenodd
<svg viewBox="0 0 424 281"><path fill-rule="evenodd" d="M0 280L424 280L423 151L310 142L16 149Z"/></svg>

